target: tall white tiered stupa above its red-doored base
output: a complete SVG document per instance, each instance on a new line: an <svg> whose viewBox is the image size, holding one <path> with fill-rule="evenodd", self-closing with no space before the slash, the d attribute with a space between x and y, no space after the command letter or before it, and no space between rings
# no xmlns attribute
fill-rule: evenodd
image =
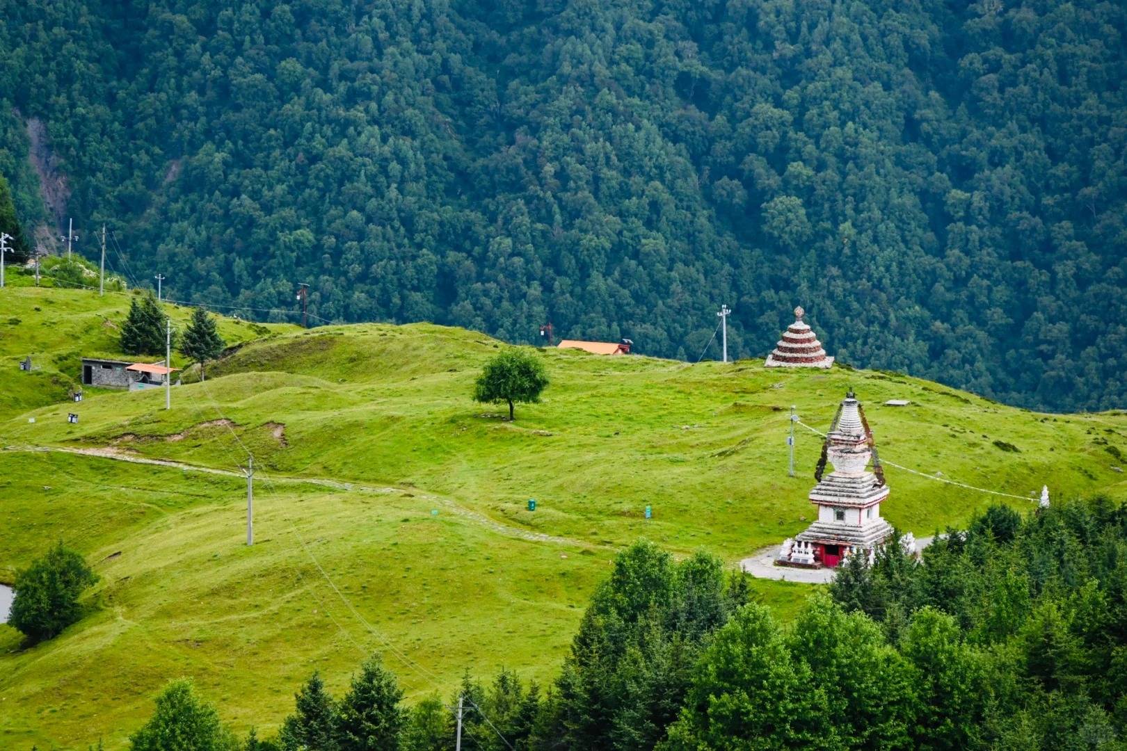
<svg viewBox="0 0 1127 751"><path fill-rule="evenodd" d="M810 491L810 501L819 507L818 520L796 539L868 548L885 542L893 534L891 525L879 512L879 503L888 498L888 485L885 484L879 459L873 464L875 472L866 471L875 450L872 432L864 420L861 403L851 391L829 427L815 472L818 484ZM833 464L834 470L823 476L826 461ZM869 516L866 510L871 507L877 508ZM822 508L827 512L822 512ZM845 512L837 515L838 510Z"/></svg>

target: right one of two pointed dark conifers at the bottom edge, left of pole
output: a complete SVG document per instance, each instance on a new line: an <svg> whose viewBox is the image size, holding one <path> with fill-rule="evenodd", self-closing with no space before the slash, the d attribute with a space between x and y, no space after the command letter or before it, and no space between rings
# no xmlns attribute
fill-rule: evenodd
<svg viewBox="0 0 1127 751"><path fill-rule="evenodd" d="M396 677L372 656L361 665L337 710L337 743L341 751L394 751L407 715Z"/></svg>

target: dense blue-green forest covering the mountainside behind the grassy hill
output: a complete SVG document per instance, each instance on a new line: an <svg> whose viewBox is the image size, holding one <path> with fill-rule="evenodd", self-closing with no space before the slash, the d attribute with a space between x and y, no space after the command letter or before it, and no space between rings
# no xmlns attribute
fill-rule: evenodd
<svg viewBox="0 0 1127 751"><path fill-rule="evenodd" d="M21 218L181 299L1127 401L1120 2L2 5Z"/></svg>

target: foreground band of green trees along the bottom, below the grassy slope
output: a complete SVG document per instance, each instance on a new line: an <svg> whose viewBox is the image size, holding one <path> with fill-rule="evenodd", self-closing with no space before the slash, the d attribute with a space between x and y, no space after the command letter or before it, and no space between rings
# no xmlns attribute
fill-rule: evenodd
<svg viewBox="0 0 1127 751"><path fill-rule="evenodd" d="M276 737L243 743L175 681L132 748L179 728L201 749L443 751L461 699L473 751L1127 749L1127 507L992 507L922 564L895 543L854 556L789 626L747 600L719 560L639 542L547 689L467 674L407 706L372 659L341 697L314 673Z"/></svg>

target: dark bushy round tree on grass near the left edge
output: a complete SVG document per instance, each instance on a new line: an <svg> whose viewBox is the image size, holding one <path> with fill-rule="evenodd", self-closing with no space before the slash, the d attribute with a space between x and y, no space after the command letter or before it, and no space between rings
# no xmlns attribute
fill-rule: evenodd
<svg viewBox="0 0 1127 751"><path fill-rule="evenodd" d="M8 623L33 640L51 638L79 619L78 600L97 581L82 556L59 543L16 574Z"/></svg>

